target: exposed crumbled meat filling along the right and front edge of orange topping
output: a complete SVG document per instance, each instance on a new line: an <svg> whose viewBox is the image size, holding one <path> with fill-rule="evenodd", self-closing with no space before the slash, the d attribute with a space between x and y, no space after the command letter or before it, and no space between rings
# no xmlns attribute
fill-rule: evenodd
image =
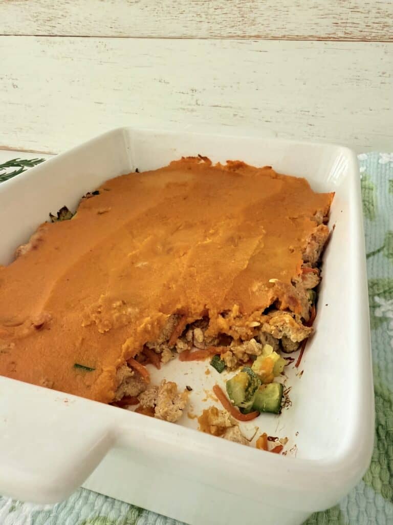
<svg viewBox="0 0 393 525"><path fill-rule="evenodd" d="M172 314L163 327L159 337L154 342L146 343L146 346L160 354L162 363L167 363L184 351L192 348L204 350L211 346L221 346L221 359L230 370L236 369L249 362L250 358L260 355L265 344L270 344L276 352L294 352L299 349L301 341L310 337L313 329L304 321L308 321L310 315L310 304L315 300L315 291L321 280L319 269L313 268L309 262L314 262L315 257L320 256L320 250L326 241L326 227L320 224L313 232L312 254L304 265L304 272L292 280L292 295L301 304L302 313L293 313L289 310L281 310L272 307L258 314L255 321L249 322L247 327L242 326L241 315L238 307L230 312L232 324L230 332L225 331L216 337L209 335L209 318L197 319L186 325L179 333L179 337L173 341L171 335L177 330L181 323L179 314ZM311 242L311 240L310 240ZM322 244L322 245L321 245ZM236 309L237 308L237 309ZM222 321L225 323L227 314L222 313ZM304 316L304 317L303 317ZM237 325L237 322L240 324Z"/></svg>

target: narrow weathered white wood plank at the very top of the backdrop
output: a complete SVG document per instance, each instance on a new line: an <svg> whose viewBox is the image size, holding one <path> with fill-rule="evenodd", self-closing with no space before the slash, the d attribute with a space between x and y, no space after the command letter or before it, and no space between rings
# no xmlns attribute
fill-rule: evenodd
<svg viewBox="0 0 393 525"><path fill-rule="evenodd" d="M0 34L393 40L391 0L0 0Z"/></svg>

